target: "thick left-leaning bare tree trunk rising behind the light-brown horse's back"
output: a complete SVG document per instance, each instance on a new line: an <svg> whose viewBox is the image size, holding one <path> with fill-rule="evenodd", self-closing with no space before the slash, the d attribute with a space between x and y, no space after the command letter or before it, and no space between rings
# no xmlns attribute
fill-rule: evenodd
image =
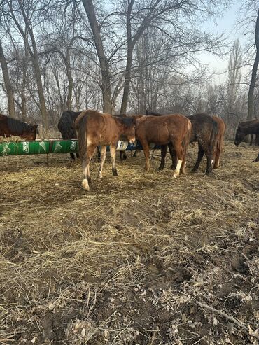
<svg viewBox="0 0 259 345"><path fill-rule="evenodd" d="M82 0L85 8L85 13L88 17L92 34L94 36L94 45L97 50L101 73L102 73L102 95L103 95L103 109L104 113L112 113L112 100L111 100L111 73L109 71L109 61L104 52L104 45L97 18L94 11L92 0Z"/></svg>

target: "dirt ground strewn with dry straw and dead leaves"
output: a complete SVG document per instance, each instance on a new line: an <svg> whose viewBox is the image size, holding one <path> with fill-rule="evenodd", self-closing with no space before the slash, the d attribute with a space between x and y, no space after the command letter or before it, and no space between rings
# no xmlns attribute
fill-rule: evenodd
<svg viewBox="0 0 259 345"><path fill-rule="evenodd" d="M258 344L258 148L176 180L158 155L90 192L69 154L0 157L0 344Z"/></svg>

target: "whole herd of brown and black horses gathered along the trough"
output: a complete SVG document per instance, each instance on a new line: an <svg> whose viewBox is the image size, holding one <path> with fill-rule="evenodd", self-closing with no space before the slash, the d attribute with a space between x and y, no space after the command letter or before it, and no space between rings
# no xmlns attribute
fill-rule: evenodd
<svg viewBox="0 0 259 345"><path fill-rule="evenodd" d="M207 157L206 174L217 169L223 151L225 122L217 116L198 113L184 116L181 114L162 115L146 111L146 115L113 116L94 110L83 112L65 111L58 123L63 139L78 137L77 157L83 164L83 188L89 190L90 162L97 147L100 148L99 177L106 159L106 146L110 146L113 176L117 176L116 146L119 139L133 143L140 141L146 159L145 170L150 168L149 144L161 146L161 162L158 169L164 169L167 146L172 157L174 178L184 173L188 144L197 141L198 157L192 171L197 171L202 157ZM23 139L35 140L38 134L37 125L9 118L0 114L0 136L20 136ZM235 136L235 144L239 145L246 135L255 134L259 138L259 120L240 122ZM123 153L125 155L125 153ZM74 159L73 153L71 158ZM120 159L123 158L121 153ZM259 161L259 154L255 161ZM212 167L213 165L213 167Z"/></svg>

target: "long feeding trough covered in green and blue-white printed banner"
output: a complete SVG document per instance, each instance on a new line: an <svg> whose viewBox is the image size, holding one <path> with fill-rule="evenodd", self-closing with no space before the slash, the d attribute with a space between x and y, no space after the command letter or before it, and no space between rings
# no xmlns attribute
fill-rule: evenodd
<svg viewBox="0 0 259 345"><path fill-rule="evenodd" d="M151 148L160 148L151 144ZM117 150L142 150L139 141L131 144L128 141L118 141ZM0 156L10 155L39 155L48 153L70 153L77 152L78 143L77 139L62 140L35 140L35 141L10 141L0 142ZM109 146L108 146L109 150Z"/></svg>

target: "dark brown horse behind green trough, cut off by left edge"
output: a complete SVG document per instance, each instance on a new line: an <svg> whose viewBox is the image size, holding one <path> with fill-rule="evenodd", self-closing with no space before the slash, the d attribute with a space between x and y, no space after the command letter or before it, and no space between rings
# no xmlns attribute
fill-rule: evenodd
<svg viewBox="0 0 259 345"><path fill-rule="evenodd" d="M0 136L13 135L26 140L35 140L36 134L38 134L38 125L28 125L26 122L0 114Z"/></svg>

